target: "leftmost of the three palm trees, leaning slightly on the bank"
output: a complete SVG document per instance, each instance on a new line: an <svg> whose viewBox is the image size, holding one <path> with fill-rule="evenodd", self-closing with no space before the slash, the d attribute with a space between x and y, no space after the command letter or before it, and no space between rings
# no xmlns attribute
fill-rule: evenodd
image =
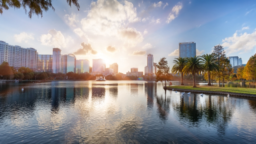
<svg viewBox="0 0 256 144"><path fill-rule="evenodd" d="M175 58L176 60L173 60L173 62L175 63L175 65L172 67L172 73L180 73L181 74L181 78L180 78L180 85L184 85L183 84L183 68L185 67L186 63L187 63L187 58Z"/></svg>

